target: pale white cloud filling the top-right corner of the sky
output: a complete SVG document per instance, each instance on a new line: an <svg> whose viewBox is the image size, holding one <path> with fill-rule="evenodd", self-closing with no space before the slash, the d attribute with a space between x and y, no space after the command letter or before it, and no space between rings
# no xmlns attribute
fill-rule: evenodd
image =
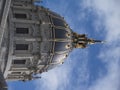
<svg viewBox="0 0 120 90"><path fill-rule="evenodd" d="M99 4L98 4L99 3ZM120 39L120 1L119 0L99 0L95 1L96 9L105 15L107 30L107 40L115 41ZM114 37L114 38L113 38Z"/></svg>

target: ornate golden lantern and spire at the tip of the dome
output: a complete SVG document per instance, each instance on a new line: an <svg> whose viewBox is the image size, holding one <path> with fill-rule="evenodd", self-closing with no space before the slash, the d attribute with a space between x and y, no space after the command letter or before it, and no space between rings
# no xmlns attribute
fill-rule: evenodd
<svg viewBox="0 0 120 90"><path fill-rule="evenodd" d="M101 40L87 38L86 34L77 34L75 32L73 32L72 42L74 48L86 48L90 44L104 43Z"/></svg>

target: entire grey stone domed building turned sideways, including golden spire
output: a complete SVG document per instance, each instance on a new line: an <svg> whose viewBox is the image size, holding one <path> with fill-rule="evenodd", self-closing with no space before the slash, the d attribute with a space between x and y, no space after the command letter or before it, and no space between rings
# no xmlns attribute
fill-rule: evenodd
<svg viewBox="0 0 120 90"><path fill-rule="evenodd" d="M73 32L59 14L35 6L34 1L38 0L2 1L0 68L3 88L5 80L40 78L35 75L63 64L74 48L101 43Z"/></svg>

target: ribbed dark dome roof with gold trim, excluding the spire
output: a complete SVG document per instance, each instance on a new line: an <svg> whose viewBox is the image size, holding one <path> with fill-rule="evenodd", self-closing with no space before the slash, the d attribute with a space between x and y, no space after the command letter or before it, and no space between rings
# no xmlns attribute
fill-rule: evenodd
<svg viewBox="0 0 120 90"><path fill-rule="evenodd" d="M57 13L42 8L47 20L41 25L41 59L46 61L46 70L62 64L71 51L72 31L64 18ZM43 63L43 62L41 62Z"/></svg>

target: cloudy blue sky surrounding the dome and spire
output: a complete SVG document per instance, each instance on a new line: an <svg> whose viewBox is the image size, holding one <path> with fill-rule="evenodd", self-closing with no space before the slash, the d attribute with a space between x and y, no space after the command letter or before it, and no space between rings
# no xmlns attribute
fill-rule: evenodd
<svg viewBox="0 0 120 90"><path fill-rule="evenodd" d="M8 82L8 90L120 90L120 0L43 0L71 29L106 41L74 49L65 63L30 82Z"/></svg>

